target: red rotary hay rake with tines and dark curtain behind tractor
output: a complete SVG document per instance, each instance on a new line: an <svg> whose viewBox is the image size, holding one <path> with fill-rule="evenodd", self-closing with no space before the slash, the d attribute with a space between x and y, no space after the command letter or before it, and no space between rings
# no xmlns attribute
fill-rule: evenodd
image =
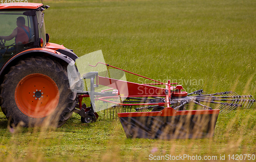
<svg viewBox="0 0 256 162"><path fill-rule="evenodd" d="M102 62L90 66L98 64L106 65L108 71L113 67L131 73ZM97 72L83 75L83 79L91 79L90 91L84 97L90 96L94 106L95 101L103 101L104 114L110 113L110 118L114 119L117 113L127 138L212 137L219 113L226 114L238 107L249 108L255 102L251 95L240 96L232 91L206 94L200 89L188 94L178 83L143 78L157 83L127 82L98 76ZM95 92L94 88L99 85L110 88ZM165 85L165 88L153 85ZM82 104L81 100L79 104Z"/></svg>

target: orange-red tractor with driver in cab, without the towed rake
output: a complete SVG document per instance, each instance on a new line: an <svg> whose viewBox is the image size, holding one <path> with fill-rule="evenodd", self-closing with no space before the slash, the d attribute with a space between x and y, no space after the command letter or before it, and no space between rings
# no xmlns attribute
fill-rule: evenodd
<svg viewBox="0 0 256 162"><path fill-rule="evenodd" d="M46 118L63 125L77 104L67 66L78 58L73 50L50 43L44 10L35 3L0 5L1 107L14 125L35 126ZM82 82L75 85L82 90Z"/></svg>

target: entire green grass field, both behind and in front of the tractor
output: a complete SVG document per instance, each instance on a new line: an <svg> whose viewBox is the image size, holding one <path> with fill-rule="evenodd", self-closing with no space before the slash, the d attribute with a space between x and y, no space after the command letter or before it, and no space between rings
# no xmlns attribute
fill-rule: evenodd
<svg viewBox="0 0 256 162"><path fill-rule="evenodd" d="M233 90L256 97L255 1L106 0L44 4L51 6L45 11L50 42L64 44L78 56L102 50L110 65L159 81L178 81L188 92ZM128 74L126 78L140 81ZM79 116L73 114L57 129L11 129L0 112L0 159L149 161L150 154L188 154L228 161L229 154L256 156L255 124L254 104L251 109L220 115L212 138L126 139L120 122L102 115L92 124L81 124ZM224 154L225 160L220 160Z"/></svg>

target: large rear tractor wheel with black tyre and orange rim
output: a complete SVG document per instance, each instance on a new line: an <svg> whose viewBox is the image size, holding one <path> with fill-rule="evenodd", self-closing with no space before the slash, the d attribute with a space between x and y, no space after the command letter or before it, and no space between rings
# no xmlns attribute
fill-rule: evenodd
<svg viewBox="0 0 256 162"><path fill-rule="evenodd" d="M67 68L45 57L19 61L1 87L2 111L14 125L59 127L71 117L76 104Z"/></svg>

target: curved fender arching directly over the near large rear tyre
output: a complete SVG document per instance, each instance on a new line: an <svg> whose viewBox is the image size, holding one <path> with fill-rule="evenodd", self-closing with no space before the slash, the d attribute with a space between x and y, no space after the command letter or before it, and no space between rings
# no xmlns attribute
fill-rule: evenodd
<svg viewBox="0 0 256 162"><path fill-rule="evenodd" d="M46 56L48 58L51 58L57 62L60 62L62 65L67 64L75 64L75 61L70 58L69 56L66 56L64 54L61 54L58 51L47 49L47 48L33 48L28 49L23 52L20 52L16 55L14 55L12 58L10 58L5 65L2 67L0 71L0 84L3 82L4 75L8 73L9 68L13 65L15 65L19 60L25 59L27 57L32 56Z"/></svg>

